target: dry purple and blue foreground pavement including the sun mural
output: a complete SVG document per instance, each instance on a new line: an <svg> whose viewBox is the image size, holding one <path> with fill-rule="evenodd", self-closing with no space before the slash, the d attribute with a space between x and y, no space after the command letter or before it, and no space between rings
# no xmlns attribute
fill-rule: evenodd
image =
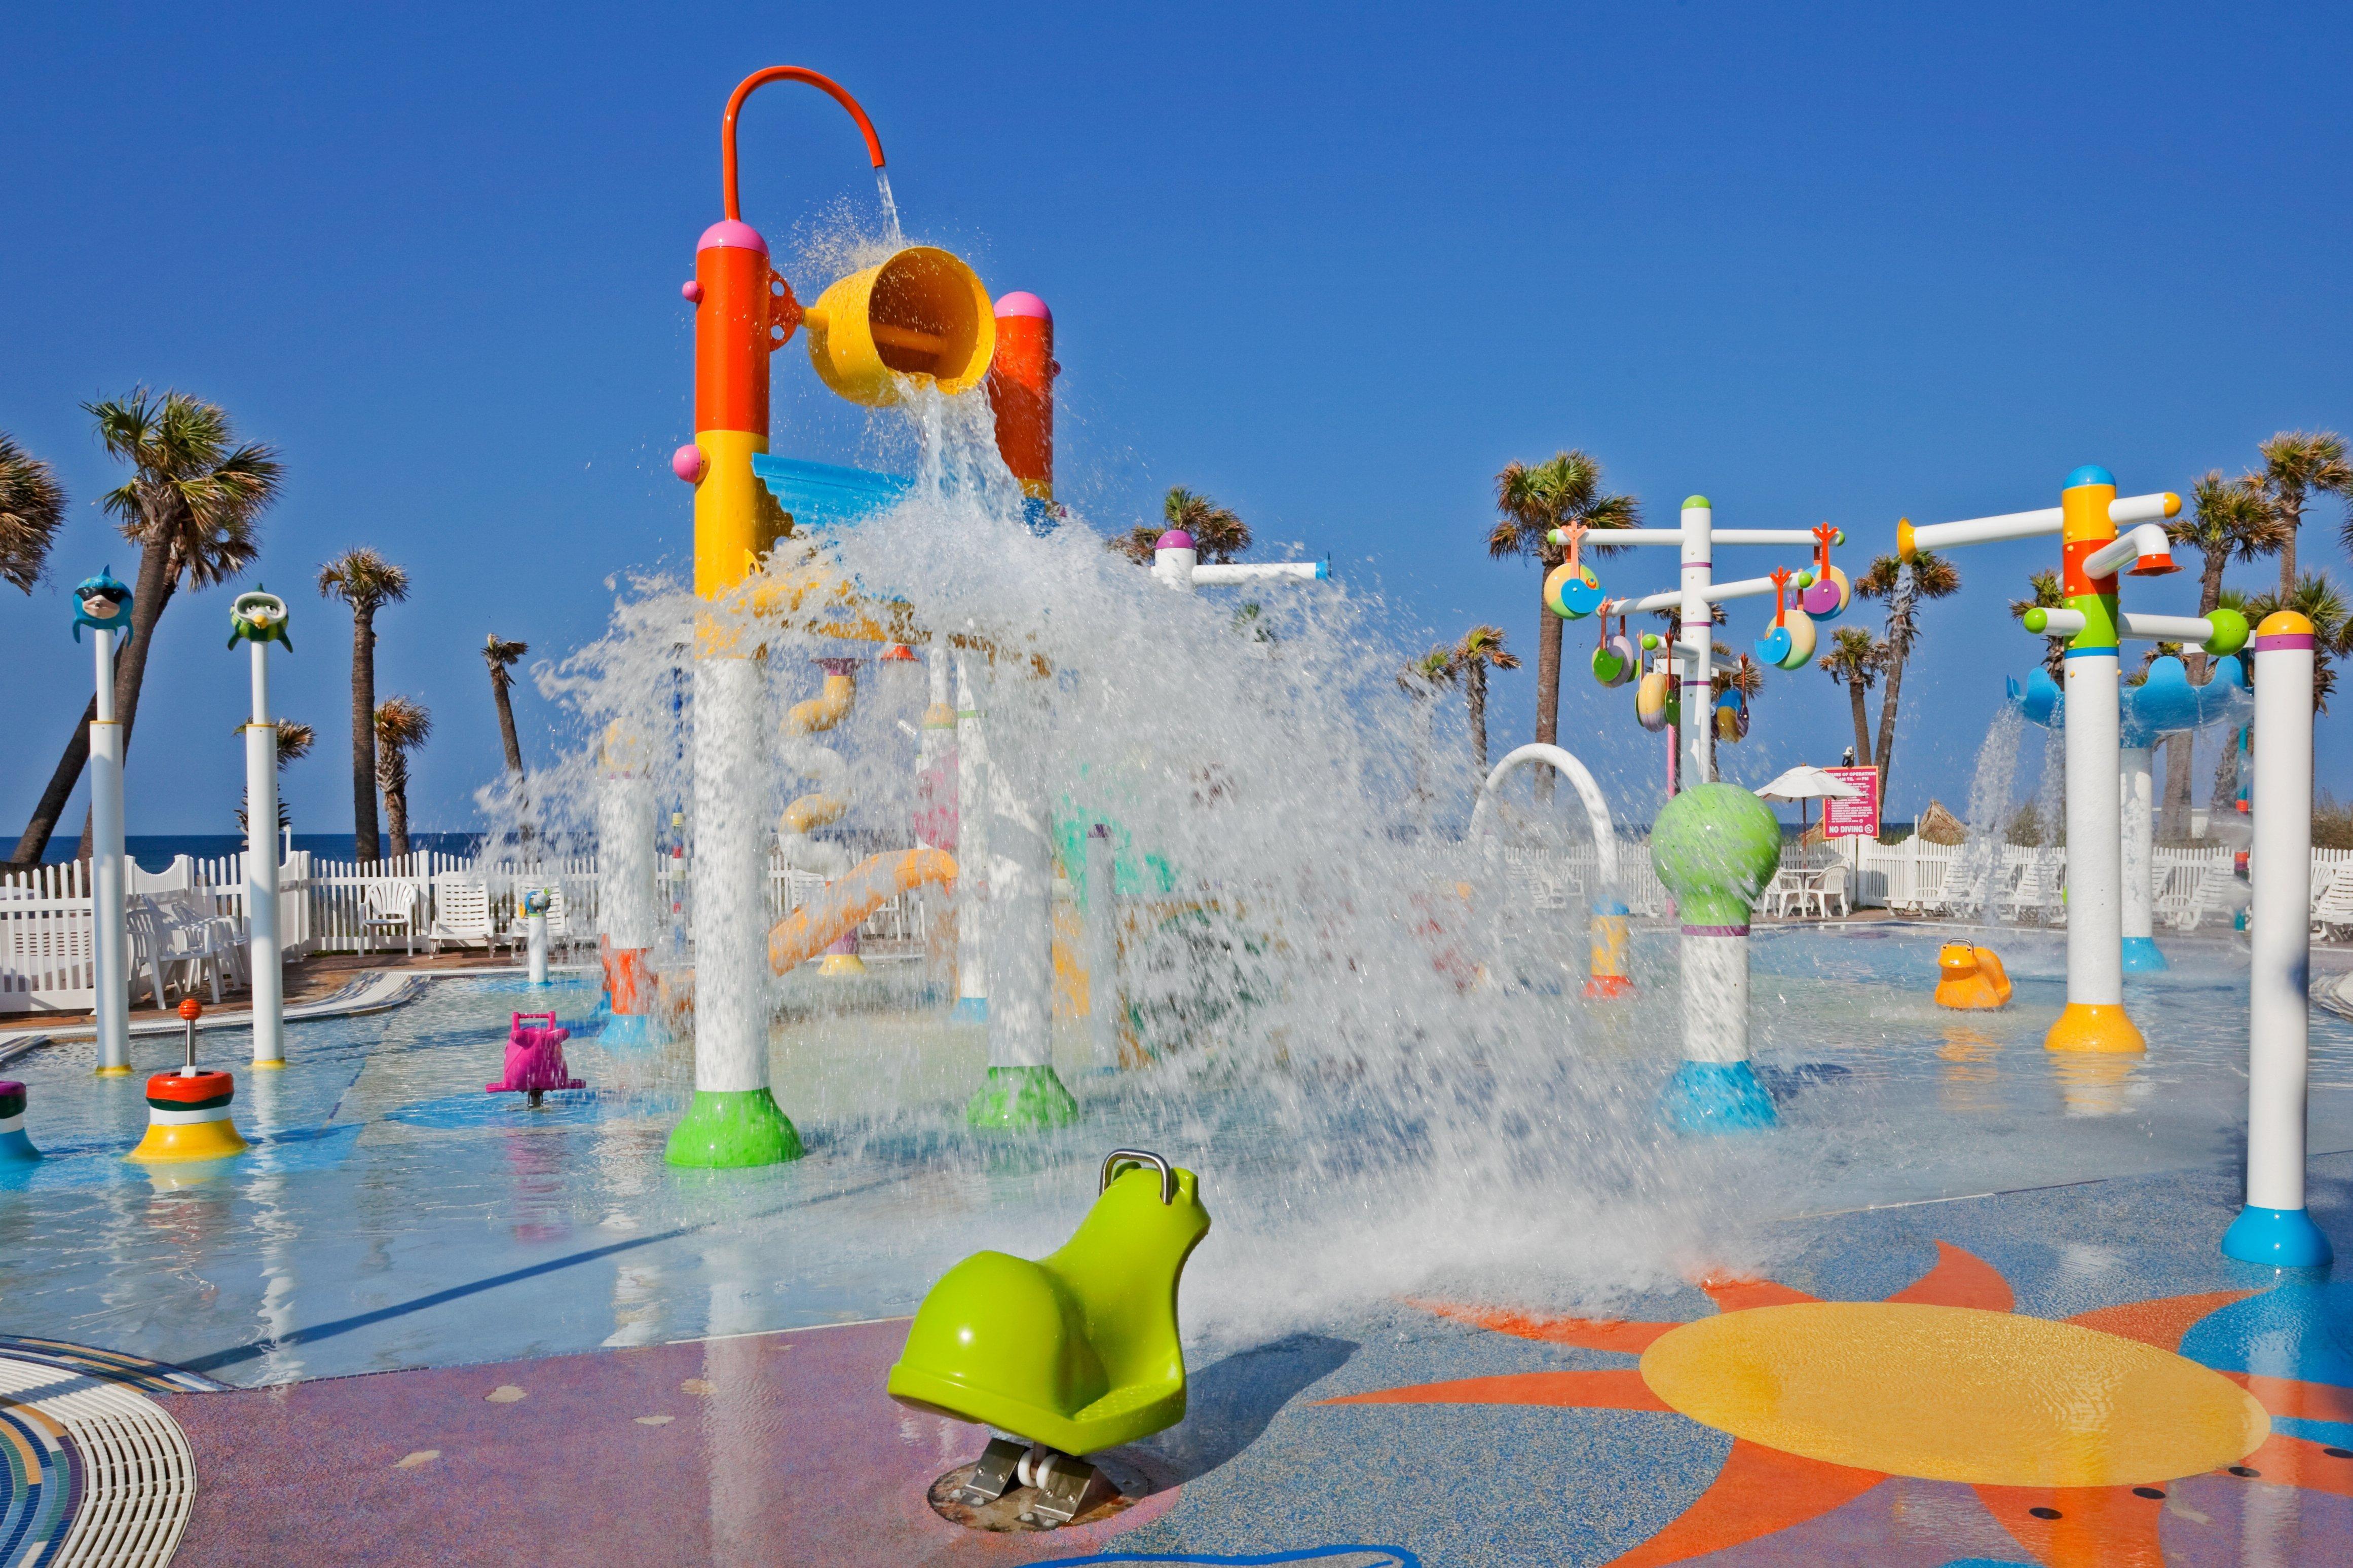
<svg viewBox="0 0 2353 1568"><path fill-rule="evenodd" d="M2353 1286L2226 1260L2235 1201L2235 1171L2207 1168L1791 1220L1779 1279L1692 1284L1617 1321L1572 1300L1398 1302L1195 1347L1188 1420L1122 1453L1151 1495L1042 1535L925 1505L984 1432L882 1396L901 1321L169 1394L198 1469L179 1561L2353 1561ZM2313 1161L2313 1213L2353 1253L2353 1154ZM1864 1338L1922 1312L1962 1333L1868 1361L1854 1324L1802 1309L1817 1298L1892 1300L1840 1309ZM1791 1326L1739 1354L1812 1375L1817 1429L1774 1448L1748 1425L1772 1410L1711 1415L1741 1434L1678 1413L1689 1389L1642 1352L1715 1321ZM2092 1352L2040 1354L2049 1335ZM2085 1406L2101 1356L2125 1371ZM1739 1382L1718 1363L1708 1387ZM2200 1448L2238 1389L2257 1425ZM2068 1458L2033 1460L2054 1436ZM2021 1462L2101 1483L2005 1469ZM1995 1479L1906 1474L1951 1465Z"/></svg>

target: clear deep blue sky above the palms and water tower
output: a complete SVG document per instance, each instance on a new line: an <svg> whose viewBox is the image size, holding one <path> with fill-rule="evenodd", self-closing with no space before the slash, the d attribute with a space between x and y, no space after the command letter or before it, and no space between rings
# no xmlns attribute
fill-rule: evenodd
<svg viewBox="0 0 2353 1568"><path fill-rule="evenodd" d="M1897 515L2049 505L2078 463L2186 491L2273 430L2353 425L2353 24L2318 7L89 5L9 31L0 428L75 522L49 585L0 590L7 839L87 693L64 588L132 564L87 505L115 475L78 404L139 381L287 458L259 576L296 604L280 705L322 729L299 827L348 827L348 618L308 583L351 543L416 581L379 656L440 722L414 818L468 825L496 766L482 635L560 654L607 576L687 548L678 282L718 216L720 106L765 63L849 85L911 230L1054 306L1068 498L1125 524L1205 489L1417 639L1532 644L1537 576L1480 541L1494 470L1558 447L1661 522L1706 491L1725 527L1828 517L1878 550ZM873 200L805 89L755 101L744 167L779 240ZM800 355L779 367L776 449L854 458ZM2304 555L2344 578L2339 520L2315 505ZM2035 656L2002 599L2052 555L1969 550L1925 611L1899 813L1967 792ZM1642 559L1609 588L1664 588ZM2193 576L2132 602L2191 609ZM226 595L167 616L134 832L231 830L224 621ZM1499 738L1532 691L1499 682ZM1649 745L1628 710L1565 682L1586 745ZM2322 785L2348 724L2322 719ZM1777 672L1758 733L1760 762L1831 762L1845 693Z"/></svg>

